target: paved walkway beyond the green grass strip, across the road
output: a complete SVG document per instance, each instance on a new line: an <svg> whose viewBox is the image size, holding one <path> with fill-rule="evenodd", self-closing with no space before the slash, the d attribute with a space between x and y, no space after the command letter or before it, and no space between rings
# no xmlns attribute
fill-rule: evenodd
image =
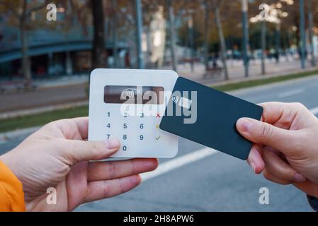
<svg viewBox="0 0 318 226"><path fill-rule="evenodd" d="M244 77L242 61L228 61L228 81L224 80L223 75L203 78L205 73L203 64L195 64L193 73L190 64L178 65L178 74L204 85L224 85L318 69L318 66L312 67L309 64L307 63L306 69L300 69L300 61L298 60L286 61L282 59L279 64L267 60L266 75L263 76L261 75L260 61L251 61L249 77L246 78ZM163 69L170 68L164 67ZM4 93L4 95L0 95L0 119L87 105L86 83L88 78L88 76L69 76L56 80L38 81L39 88L35 91Z"/></svg>

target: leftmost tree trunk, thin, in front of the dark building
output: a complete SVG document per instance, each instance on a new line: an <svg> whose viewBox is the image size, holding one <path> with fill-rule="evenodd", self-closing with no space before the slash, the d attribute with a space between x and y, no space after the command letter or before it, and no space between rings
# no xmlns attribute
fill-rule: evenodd
<svg viewBox="0 0 318 226"><path fill-rule="evenodd" d="M25 14L28 9L28 0L23 1L23 9L20 17L20 42L21 42L21 52L22 52L22 73L23 78L26 80L31 79L30 71L30 61L28 57L28 41L26 40L25 34Z"/></svg>

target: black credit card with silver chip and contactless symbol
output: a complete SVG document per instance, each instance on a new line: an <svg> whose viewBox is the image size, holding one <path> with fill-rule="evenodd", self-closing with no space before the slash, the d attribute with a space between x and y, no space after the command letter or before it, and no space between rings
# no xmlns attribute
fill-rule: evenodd
<svg viewBox="0 0 318 226"><path fill-rule="evenodd" d="M251 142L236 129L242 117L261 119L263 108L179 77L159 128L246 160Z"/></svg>

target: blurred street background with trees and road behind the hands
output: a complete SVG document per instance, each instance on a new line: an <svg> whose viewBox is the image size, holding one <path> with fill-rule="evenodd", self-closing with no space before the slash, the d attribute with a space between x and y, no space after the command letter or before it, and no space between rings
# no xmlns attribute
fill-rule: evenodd
<svg viewBox="0 0 318 226"><path fill-rule="evenodd" d="M87 116L92 69L172 69L318 116L317 59L318 0L0 0L0 155L49 121ZM76 210L311 211L293 186L191 141L160 163L134 191Z"/></svg>

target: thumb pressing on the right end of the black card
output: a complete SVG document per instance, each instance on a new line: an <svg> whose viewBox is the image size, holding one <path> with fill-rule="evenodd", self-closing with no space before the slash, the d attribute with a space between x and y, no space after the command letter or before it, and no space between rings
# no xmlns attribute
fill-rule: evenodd
<svg viewBox="0 0 318 226"><path fill-rule="evenodd" d="M242 118L237 121L237 130L244 138L253 143L268 145L284 153L293 148L293 131L280 129L266 122Z"/></svg>

